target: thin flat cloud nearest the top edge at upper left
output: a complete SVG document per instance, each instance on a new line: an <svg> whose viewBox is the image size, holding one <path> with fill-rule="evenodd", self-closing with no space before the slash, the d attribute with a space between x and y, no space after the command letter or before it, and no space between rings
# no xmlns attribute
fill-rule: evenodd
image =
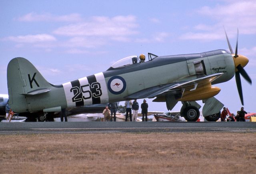
<svg viewBox="0 0 256 174"><path fill-rule="evenodd" d="M68 14L62 16L55 16L50 13L44 14L36 14L34 12L28 13L24 16L16 18L18 21L22 22L38 22L38 21L46 21L46 22L78 22L81 21L82 18L80 14Z"/></svg>

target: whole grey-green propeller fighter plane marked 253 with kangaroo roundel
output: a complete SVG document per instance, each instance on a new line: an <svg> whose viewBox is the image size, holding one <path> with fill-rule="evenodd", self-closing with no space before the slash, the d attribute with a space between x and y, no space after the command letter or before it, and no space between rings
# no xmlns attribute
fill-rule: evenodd
<svg viewBox="0 0 256 174"><path fill-rule="evenodd" d="M226 31L225 31L226 34ZM25 58L12 59L7 68L10 108L14 112L52 113L63 112L79 106L154 98L153 102L166 102L172 110L182 102L181 116L196 121L203 116L208 121L220 118L224 106L214 98L220 88L214 84L227 82L234 75L242 105L240 74L251 84L244 67L249 60L238 54L238 31L235 53L226 39L230 52L213 50L197 54L173 56L129 56L115 62L108 70L60 85L47 82Z"/></svg>

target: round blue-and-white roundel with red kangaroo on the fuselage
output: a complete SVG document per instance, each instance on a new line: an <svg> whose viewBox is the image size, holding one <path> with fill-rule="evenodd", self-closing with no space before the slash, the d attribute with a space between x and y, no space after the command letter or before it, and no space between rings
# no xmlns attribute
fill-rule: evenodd
<svg viewBox="0 0 256 174"><path fill-rule="evenodd" d="M113 76L108 80L108 90L112 94L121 94L126 88L124 78L120 76Z"/></svg>

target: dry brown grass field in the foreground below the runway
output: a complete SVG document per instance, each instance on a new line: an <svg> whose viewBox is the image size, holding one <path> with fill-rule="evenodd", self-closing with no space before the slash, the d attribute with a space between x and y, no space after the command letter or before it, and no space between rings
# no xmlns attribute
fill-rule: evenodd
<svg viewBox="0 0 256 174"><path fill-rule="evenodd" d="M256 173L255 133L0 135L0 173Z"/></svg>

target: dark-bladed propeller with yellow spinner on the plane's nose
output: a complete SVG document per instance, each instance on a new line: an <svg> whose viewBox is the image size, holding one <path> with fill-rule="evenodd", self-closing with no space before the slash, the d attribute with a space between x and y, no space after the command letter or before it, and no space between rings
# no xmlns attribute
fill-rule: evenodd
<svg viewBox="0 0 256 174"><path fill-rule="evenodd" d="M224 28L225 30L225 28ZM237 29L237 38L236 38L236 52L234 54L232 47L230 45L230 42L228 40L228 36L225 30L225 34L226 34L226 38L227 38L227 42L228 42L228 47L229 50L231 52L231 55L233 56L234 59L234 63L235 63L235 68L236 68L236 72L235 72L235 76L236 76L236 86L237 86L237 90L238 90L238 94L241 100L242 105L244 105L244 99L243 99L243 92L242 92L242 84L241 84L241 78L240 78L240 74L244 77L244 79L252 84L252 80L250 79L250 77L248 76L248 74L246 73L246 71L244 70L244 66L246 66L249 62L248 58L246 56L237 54L237 49L238 49L238 29Z"/></svg>

